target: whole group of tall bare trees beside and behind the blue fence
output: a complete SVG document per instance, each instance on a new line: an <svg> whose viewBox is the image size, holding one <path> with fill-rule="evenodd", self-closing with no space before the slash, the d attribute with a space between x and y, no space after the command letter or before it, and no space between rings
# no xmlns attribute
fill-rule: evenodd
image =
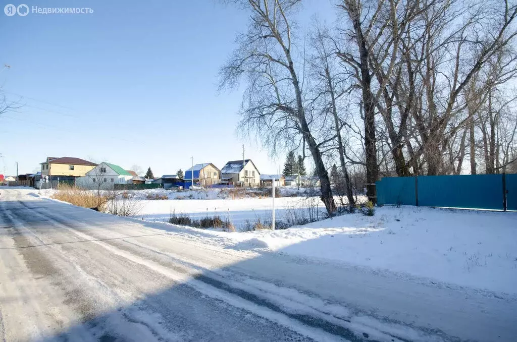
<svg viewBox="0 0 517 342"><path fill-rule="evenodd" d="M308 150L329 213L336 161L351 204L354 172L375 201L386 175L514 167L516 3L336 0L335 24L301 32L300 0L233 2L251 17L221 86L246 81L241 126L273 152Z"/></svg>

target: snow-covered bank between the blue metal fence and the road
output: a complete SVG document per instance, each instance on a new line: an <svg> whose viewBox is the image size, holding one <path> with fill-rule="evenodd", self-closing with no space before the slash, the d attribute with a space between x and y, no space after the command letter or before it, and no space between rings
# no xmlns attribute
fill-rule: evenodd
<svg viewBox="0 0 517 342"><path fill-rule="evenodd" d="M300 228L241 233L282 253L517 293L517 213L383 207ZM262 242L262 243L261 243Z"/></svg>

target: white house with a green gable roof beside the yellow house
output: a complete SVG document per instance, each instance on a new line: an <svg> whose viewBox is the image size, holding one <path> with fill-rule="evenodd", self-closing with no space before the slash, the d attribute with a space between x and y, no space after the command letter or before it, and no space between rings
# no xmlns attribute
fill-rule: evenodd
<svg viewBox="0 0 517 342"><path fill-rule="evenodd" d="M102 162L85 176L75 178L75 185L85 189L111 190L114 184L132 184L133 175L118 165ZM100 185L99 185L100 184Z"/></svg>

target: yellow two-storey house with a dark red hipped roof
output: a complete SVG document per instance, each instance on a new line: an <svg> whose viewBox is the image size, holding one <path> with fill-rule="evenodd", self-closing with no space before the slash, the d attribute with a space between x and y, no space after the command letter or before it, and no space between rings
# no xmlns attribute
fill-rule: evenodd
<svg viewBox="0 0 517 342"><path fill-rule="evenodd" d="M47 157L47 161L41 163L41 177L44 178L45 176L49 176L52 179L59 176L66 178L83 177L95 166L97 166L97 164L79 158Z"/></svg>

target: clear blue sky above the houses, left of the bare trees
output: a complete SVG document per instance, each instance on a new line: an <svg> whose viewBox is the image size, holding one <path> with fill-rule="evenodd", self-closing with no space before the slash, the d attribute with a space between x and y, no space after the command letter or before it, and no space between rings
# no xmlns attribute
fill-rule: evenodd
<svg viewBox="0 0 517 342"><path fill-rule="evenodd" d="M241 159L276 173L253 138L236 132L242 90L218 94L218 71L246 30L248 14L219 1L42 1L92 14L7 17L0 11L0 85L18 113L0 117L0 173L31 173L47 156L150 166L172 174L194 163ZM330 0L308 0L333 20ZM23 96L22 98L20 96Z"/></svg>

